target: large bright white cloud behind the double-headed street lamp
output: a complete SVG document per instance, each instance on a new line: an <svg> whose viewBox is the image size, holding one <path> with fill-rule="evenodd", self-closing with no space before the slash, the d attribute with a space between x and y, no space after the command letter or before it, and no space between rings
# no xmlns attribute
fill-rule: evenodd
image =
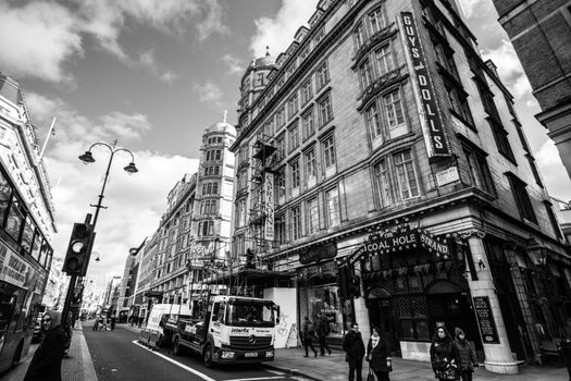
<svg viewBox="0 0 571 381"><path fill-rule="evenodd" d="M96 158L92 164L84 165L77 156L95 142L111 142L115 137L121 140L120 147L128 148L152 126L141 113L114 111L91 120L61 99L34 93L26 102L30 114L45 126L40 130L44 134L51 118L58 115L58 133L49 140L45 163L53 185L59 230L53 239L54 255L63 257L73 223L84 221L86 213L95 213L89 205L98 200L109 162L109 152L103 147L92 149ZM123 274L128 249L139 246L158 228L171 188L185 173L198 169L198 159L150 150L134 150L133 155L139 172L132 176L123 171L131 156L121 151L114 156L103 199L109 209L100 210L97 222L94 250L100 254L101 261L91 261L88 276L101 282L105 275Z"/></svg>

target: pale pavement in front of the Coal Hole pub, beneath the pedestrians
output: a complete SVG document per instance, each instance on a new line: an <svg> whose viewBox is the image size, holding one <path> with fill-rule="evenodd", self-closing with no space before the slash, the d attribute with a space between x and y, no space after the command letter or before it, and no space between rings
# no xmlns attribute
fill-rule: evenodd
<svg viewBox="0 0 571 381"><path fill-rule="evenodd" d="M290 374L298 374L313 380L346 381L349 373L349 366L345 362L345 353L334 351L331 356L303 357L303 348L276 349L273 362L264 362L269 368L278 369ZM434 381L429 362L410 361L393 357L393 369L390 381L419 380ZM363 380L367 377L369 367L363 361ZM569 376L564 367L520 367L519 374L498 374L492 373L483 367L474 372L474 381L479 380L509 380L509 381L567 381Z"/></svg>

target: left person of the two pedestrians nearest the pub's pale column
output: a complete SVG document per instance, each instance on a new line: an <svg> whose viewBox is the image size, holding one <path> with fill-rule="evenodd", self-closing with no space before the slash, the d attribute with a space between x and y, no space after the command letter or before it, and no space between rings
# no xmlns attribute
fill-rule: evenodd
<svg viewBox="0 0 571 381"><path fill-rule="evenodd" d="M444 325L436 328L436 333L432 339L431 362L434 376L438 380L460 380L460 372L454 351L454 339Z"/></svg>

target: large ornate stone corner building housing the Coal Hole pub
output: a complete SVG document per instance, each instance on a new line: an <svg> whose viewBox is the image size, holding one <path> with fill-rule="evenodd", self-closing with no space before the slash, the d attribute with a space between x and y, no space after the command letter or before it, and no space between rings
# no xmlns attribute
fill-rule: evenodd
<svg viewBox="0 0 571 381"><path fill-rule="evenodd" d="M512 96L454 1L320 1L241 79L234 254L297 321L427 359L436 324L518 371L568 329L569 254ZM272 274L273 276L273 274ZM558 300L556 305L550 303Z"/></svg>

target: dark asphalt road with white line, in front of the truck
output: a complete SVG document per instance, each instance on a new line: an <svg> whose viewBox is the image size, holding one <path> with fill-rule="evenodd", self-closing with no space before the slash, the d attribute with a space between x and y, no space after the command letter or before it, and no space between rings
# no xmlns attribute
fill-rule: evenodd
<svg viewBox="0 0 571 381"><path fill-rule="evenodd" d="M252 365L206 368L198 355L173 356L167 349L150 351L137 343L137 333L125 325L114 331L91 330L84 323L84 335L99 381L185 380L185 381L281 381L300 377Z"/></svg>

